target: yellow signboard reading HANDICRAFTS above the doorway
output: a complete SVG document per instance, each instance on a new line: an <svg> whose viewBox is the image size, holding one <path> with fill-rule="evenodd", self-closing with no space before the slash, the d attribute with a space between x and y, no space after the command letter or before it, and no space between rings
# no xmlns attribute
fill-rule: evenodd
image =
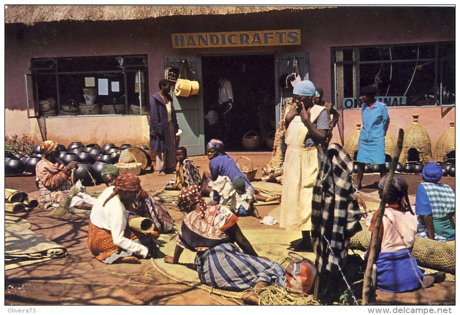
<svg viewBox="0 0 460 315"><path fill-rule="evenodd" d="M171 34L173 48L300 45L300 29Z"/></svg>

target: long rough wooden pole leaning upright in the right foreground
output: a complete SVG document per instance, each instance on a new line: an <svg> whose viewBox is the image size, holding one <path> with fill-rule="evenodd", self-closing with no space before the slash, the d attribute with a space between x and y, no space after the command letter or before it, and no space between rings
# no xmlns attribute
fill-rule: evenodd
<svg viewBox="0 0 460 315"><path fill-rule="evenodd" d="M367 253L367 266L364 272L364 279L362 285L362 305L368 305L369 298L370 298L370 284L372 282L371 275L372 275L372 266L374 265L375 259L380 252L381 246L381 239L378 237L378 232L380 230L380 226L382 224L383 213L386 206L386 201L388 200L388 190L390 188L391 181L393 180L394 171L396 169L396 164L398 163L399 156L402 150L402 143L404 138L404 131L402 129L399 130L398 134L398 142L396 144L396 149L394 152L394 157L391 160L390 170L388 171L388 176L385 181L385 185L383 186L383 193L382 199L380 201L380 206L377 210L377 219L375 220L375 227L374 231L370 236L370 244L369 250Z"/></svg>

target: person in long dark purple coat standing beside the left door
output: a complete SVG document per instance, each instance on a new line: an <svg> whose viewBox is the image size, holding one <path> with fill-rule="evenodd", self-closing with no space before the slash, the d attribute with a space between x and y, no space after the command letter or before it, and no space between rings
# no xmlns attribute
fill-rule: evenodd
<svg viewBox="0 0 460 315"><path fill-rule="evenodd" d="M176 167L176 133L179 130L173 100L169 94L171 82L161 79L160 90L150 99L150 150L156 151L156 168L160 176Z"/></svg>

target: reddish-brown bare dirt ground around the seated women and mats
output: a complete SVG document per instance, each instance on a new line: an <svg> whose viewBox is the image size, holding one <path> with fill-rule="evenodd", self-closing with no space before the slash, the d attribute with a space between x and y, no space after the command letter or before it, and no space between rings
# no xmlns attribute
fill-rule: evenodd
<svg viewBox="0 0 460 315"><path fill-rule="evenodd" d="M260 180L261 169L271 158L267 152L229 153L237 159L241 155L249 158L258 169L255 180ZM209 171L208 158L191 157L200 173ZM421 175L406 174L410 193L415 195L421 182ZM172 175L158 176L158 172L141 174L141 185L153 191L164 184ZM377 174L365 174L363 199L373 200ZM445 177L443 182L455 189L455 178ZM34 176L5 177L5 187L24 191L32 198L38 197ZM88 191L101 191L105 185L88 187ZM375 200L373 200L375 201ZM277 205L259 206L260 215L266 216ZM180 224L183 212L171 211ZM10 215L8 213L8 215ZM31 230L56 242L68 251L65 258L37 263L5 271L5 306L13 305L239 305L241 301L223 298L201 289L178 284L159 274L150 261L142 260L140 265L105 265L94 259L88 250L86 240L89 214L67 214L52 217L48 212L34 209L13 214L32 224ZM254 217L241 217L239 225L244 229L279 230L279 225L268 226ZM276 232L275 232L276 233ZM359 297L360 298L360 297ZM388 294L377 291L374 305L455 305L455 283L444 282L428 288L404 294Z"/></svg>

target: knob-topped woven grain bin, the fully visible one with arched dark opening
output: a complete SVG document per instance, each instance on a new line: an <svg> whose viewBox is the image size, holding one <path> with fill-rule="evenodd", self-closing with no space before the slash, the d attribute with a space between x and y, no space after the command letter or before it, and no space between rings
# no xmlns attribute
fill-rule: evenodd
<svg viewBox="0 0 460 315"><path fill-rule="evenodd" d="M433 161L431 152L431 140L425 128L419 123L419 114L412 114L414 122L404 131L403 148L399 162L406 164L407 162L422 162L424 164ZM409 160L409 150L415 150L419 155L419 160ZM412 159L412 158L411 158Z"/></svg>

